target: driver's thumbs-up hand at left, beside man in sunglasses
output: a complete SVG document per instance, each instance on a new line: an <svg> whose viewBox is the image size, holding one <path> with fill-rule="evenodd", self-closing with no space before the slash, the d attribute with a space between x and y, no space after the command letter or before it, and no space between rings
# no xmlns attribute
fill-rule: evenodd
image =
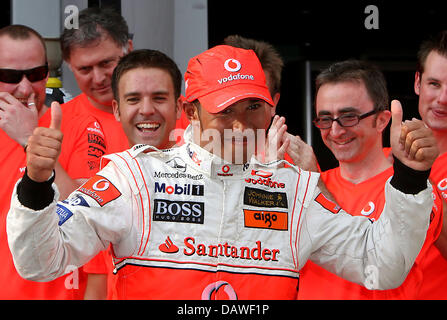
<svg viewBox="0 0 447 320"><path fill-rule="evenodd" d="M53 102L51 104L50 127L36 128L28 139L26 167L31 180L44 182L51 177L62 147L61 122L61 106L59 103Z"/></svg>

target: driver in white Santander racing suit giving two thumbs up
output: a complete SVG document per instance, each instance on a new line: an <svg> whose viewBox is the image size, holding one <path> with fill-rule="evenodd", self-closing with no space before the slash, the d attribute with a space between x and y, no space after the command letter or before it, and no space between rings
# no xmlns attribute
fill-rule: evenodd
<svg viewBox="0 0 447 320"><path fill-rule="evenodd" d="M118 299L295 299L308 259L370 289L404 281L429 225L438 152L431 135L402 123L400 103L391 106L394 176L373 222L326 198L318 173L251 157L262 135L247 132L267 130L273 105L253 51L211 48L190 60L185 83L183 107L197 125L184 145L108 155L61 202L53 111L50 137L30 140L8 214L22 277L49 281L112 244ZM275 121L281 150L290 141Z"/></svg>

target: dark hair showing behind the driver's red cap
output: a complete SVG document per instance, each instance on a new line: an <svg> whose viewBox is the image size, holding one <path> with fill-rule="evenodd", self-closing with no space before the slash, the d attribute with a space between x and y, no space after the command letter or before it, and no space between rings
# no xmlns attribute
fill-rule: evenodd
<svg viewBox="0 0 447 320"><path fill-rule="evenodd" d="M240 35L230 35L226 37L223 44L228 46L253 50L261 62L262 69L268 71L272 80L272 88L270 94L273 96L279 93L281 89L281 72L284 62L276 49L265 41L244 38Z"/></svg>

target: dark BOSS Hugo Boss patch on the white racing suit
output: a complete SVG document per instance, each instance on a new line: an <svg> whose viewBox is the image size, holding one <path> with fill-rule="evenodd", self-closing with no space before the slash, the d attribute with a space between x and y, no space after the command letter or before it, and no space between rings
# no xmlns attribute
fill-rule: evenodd
<svg viewBox="0 0 447 320"><path fill-rule="evenodd" d="M154 199L154 221L203 224L204 218L203 202Z"/></svg>

